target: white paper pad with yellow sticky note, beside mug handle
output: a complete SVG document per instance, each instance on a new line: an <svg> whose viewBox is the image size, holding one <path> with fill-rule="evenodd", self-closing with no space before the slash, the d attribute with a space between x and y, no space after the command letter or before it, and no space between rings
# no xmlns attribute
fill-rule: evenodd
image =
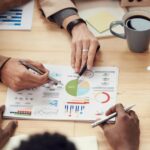
<svg viewBox="0 0 150 150"><path fill-rule="evenodd" d="M120 7L118 0L95 0L95 1L78 1L77 8L79 9L79 15L84 19L87 20L87 25L90 31L96 37L106 37L106 36L113 36L109 31L109 25L112 21L122 20L123 15L125 14L126 10ZM94 17L97 14L101 14L103 17ZM104 17L106 16L106 17ZM91 22L89 25L89 18L93 17L93 19L98 21L100 26L103 26L104 23L106 24L106 28L103 30L105 32L99 33L101 31L97 31L92 26L93 23ZM107 22L106 19L108 19ZM110 19L110 20L109 20ZM115 31L119 33L123 33L123 28L120 26L115 27Z"/></svg>

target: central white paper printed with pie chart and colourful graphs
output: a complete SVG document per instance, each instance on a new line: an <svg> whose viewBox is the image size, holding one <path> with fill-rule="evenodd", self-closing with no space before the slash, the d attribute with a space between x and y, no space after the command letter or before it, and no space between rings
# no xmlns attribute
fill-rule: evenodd
<svg viewBox="0 0 150 150"><path fill-rule="evenodd" d="M117 67L94 67L79 80L71 67L46 67L63 86L50 82L19 92L8 89L5 117L93 121L116 103Z"/></svg>

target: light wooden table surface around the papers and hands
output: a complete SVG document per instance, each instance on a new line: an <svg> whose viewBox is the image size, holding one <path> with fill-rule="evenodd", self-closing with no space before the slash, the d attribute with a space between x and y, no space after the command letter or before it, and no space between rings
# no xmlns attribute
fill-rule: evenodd
<svg viewBox="0 0 150 150"><path fill-rule="evenodd" d="M0 54L29 58L47 64L70 65L70 36L58 26L47 22L35 8L31 31L0 31ZM101 55L96 66L117 66L119 84L117 102L136 104L134 110L140 118L140 149L150 147L150 53L132 53L125 40L109 37L99 39ZM5 103L7 87L0 84L0 105ZM8 120L4 121L4 125ZM67 130L66 130L67 129ZM59 132L67 136L96 136L99 149L111 149L103 131L91 128L89 123L67 121L19 120L18 134Z"/></svg>

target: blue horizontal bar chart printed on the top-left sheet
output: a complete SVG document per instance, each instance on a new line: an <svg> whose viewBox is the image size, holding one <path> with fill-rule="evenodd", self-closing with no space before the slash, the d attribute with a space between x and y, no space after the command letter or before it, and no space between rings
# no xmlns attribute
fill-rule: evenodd
<svg viewBox="0 0 150 150"><path fill-rule="evenodd" d="M0 15L0 24L10 26L21 26L22 9L12 9Z"/></svg>

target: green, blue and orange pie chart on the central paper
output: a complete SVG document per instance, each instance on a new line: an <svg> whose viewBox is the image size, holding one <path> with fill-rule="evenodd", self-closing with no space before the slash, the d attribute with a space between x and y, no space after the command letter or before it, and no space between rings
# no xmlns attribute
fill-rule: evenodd
<svg viewBox="0 0 150 150"><path fill-rule="evenodd" d="M66 92L71 96L82 96L89 92L90 84L88 81L81 81L78 83L78 79L71 80L66 84Z"/></svg>

